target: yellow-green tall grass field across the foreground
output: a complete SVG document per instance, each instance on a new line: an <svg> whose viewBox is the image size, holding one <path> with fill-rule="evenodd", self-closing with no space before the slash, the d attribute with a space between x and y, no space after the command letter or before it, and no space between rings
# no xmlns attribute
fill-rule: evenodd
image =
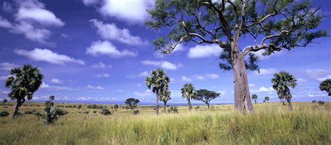
<svg viewBox="0 0 331 145"><path fill-rule="evenodd" d="M42 103L25 105L20 112L43 109ZM331 144L331 102L294 102L291 112L281 102L269 102L254 105L253 114L233 112L233 105L191 112L183 106L178 114L159 116L148 106L138 107L138 115L122 107L110 116L93 109L79 114L89 110L82 106L64 108L68 114L52 125L27 114L2 117L0 144ZM4 110L12 113L13 107L0 106Z"/></svg>

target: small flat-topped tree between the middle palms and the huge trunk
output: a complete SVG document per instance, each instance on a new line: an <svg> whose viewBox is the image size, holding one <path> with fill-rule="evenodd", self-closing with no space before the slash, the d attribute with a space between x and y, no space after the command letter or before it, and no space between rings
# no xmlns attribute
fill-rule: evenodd
<svg viewBox="0 0 331 145"><path fill-rule="evenodd" d="M200 89L196 91L196 95L193 96L194 100L200 100L202 102L205 102L205 104L208 106L210 105L210 101L218 98L220 93L216 93L215 91L209 91L206 89Z"/></svg>

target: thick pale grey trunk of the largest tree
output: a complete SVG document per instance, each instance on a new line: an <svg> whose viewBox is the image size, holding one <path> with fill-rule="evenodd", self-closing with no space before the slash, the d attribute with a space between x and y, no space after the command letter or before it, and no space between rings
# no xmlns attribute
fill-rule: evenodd
<svg viewBox="0 0 331 145"><path fill-rule="evenodd" d="M253 105L249 96L249 85L247 79L247 71L244 63L244 56L238 52L237 43L231 43L232 47L232 63L233 77L235 83L235 110L239 112L253 112Z"/></svg>

